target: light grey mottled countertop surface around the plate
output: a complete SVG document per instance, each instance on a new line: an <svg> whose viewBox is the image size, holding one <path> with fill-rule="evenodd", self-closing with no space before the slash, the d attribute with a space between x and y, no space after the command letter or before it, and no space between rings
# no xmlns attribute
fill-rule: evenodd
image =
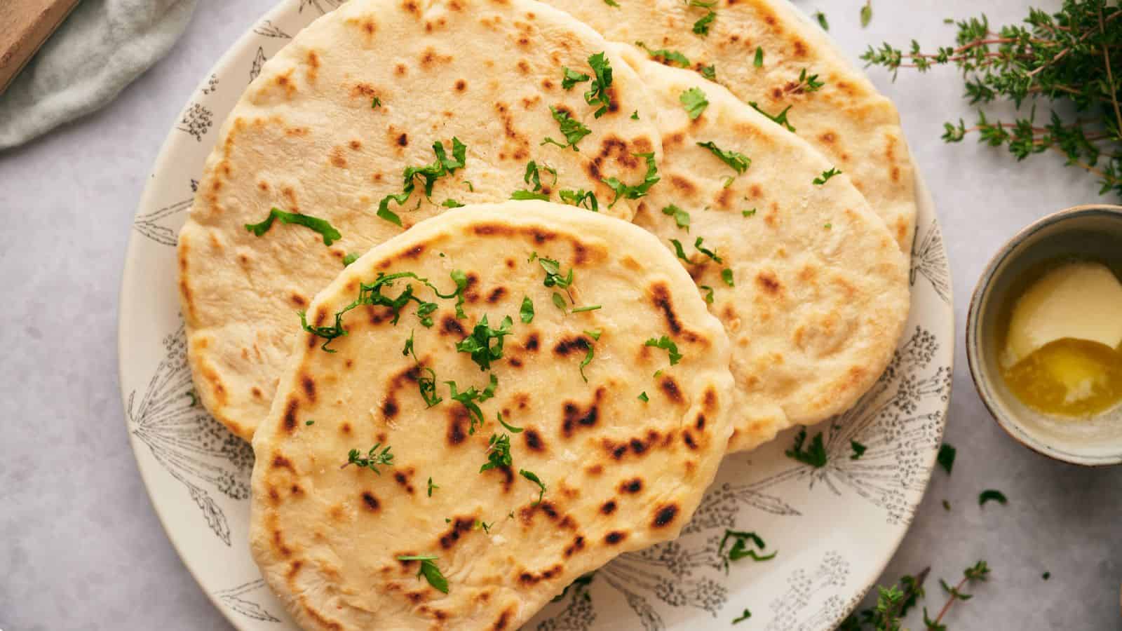
<svg viewBox="0 0 1122 631"><path fill-rule="evenodd" d="M826 10L854 55L882 39L948 43L948 17L984 10L1004 24L1028 12L1023 0L873 0L862 29L861 0L797 3ZM168 128L270 4L201 1L171 55L116 102L0 153L0 299L11 309L0 327L3 631L229 629L165 538L137 474L117 384L117 298L132 214ZM1009 439L974 392L960 341L974 282L1009 236L1050 211L1105 200L1058 156L1017 164L973 140L939 140L944 121L974 119L954 71L902 71L895 83L871 75L898 103L935 193L959 337L947 428L954 475L936 472L883 580L931 566L928 606L938 609L937 578L985 559L992 578L955 605L951 629L1120 629L1122 468L1052 463ZM1004 491L1009 504L980 509L984 488Z"/></svg>

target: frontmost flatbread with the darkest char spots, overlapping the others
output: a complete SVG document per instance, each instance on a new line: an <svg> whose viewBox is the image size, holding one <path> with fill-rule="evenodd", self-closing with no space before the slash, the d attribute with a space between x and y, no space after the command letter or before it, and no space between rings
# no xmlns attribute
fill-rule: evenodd
<svg viewBox="0 0 1122 631"><path fill-rule="evenodd" d="M545 286L542 257L562 277L573 271L571 300ZM466 319L454 299L406 278L381 294L411 283L440 305L431 328L414 302L396 326L388 307L348 312L334 353L302 335L254 437L252 554L305 629L517 629L583 573L677 537L724 454L728 340L673 255L631 223L536 201L456 210L374 248L309 314L330 326L380 273L414 272L443 293L454 269L469 278ZM569 312L574 304L600 309ZM456 350L484 316L494 328L513 318L489 371ZM411 336L415 359L402 354ZM674 365L668 349L646 346L663 336L681 355ZM497 387L472 435L444 382L482 388L488 374ZM421 377L442 402L425 406ZM498 413L523 431L504 429ZM503 433L513 463L480 473ZM394 456L380 475L340 468L350 449L366 456L375 443ZM403 555L436 556L447 595Z"/></svg>

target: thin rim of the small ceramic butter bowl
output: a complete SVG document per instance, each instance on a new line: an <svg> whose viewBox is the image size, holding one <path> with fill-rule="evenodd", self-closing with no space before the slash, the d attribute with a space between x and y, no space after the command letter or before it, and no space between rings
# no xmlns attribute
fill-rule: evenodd
<svg viewBox="0 0 1122 631"><path fill-rule="evenodd" d="M990 289L993 286L993 280L997 268L1009 259L1018 246L1032 235L1055 223L1086 214L1107 214L1122 221L1122 205L1089 203L1058 210L1041 217L1024 228L1021 228L1017 231L1017 234L1010 237L996 253L994 253L994 255L990 258L990 262L986 263L982 275L978 276L977 284L974 286L974 292L971 295L969 308L966 313L966 335L964 346L966 347L966 365L969 367L971 379L974 382L974 390L977 392L978 399L982 400L982 404L985 405L986 411L990 412L990 417L997 423L997 427L1010 436L1010 438L1021 443L1023 447L1040 454L1041 456L1046 456L1060 463L1068 463L1083 467L1107 467L1122 464L1122 450L1115 455L1103 457L1079 456L1064 451L1030 437L1023 430L1021 423L1010 418L1011 415L1000 412L999 406L994 401L993 393L990 390L990 382L982 376L982 351L981 344L978 342L978 311L981 310L983 299L988 295Z"/></svg>

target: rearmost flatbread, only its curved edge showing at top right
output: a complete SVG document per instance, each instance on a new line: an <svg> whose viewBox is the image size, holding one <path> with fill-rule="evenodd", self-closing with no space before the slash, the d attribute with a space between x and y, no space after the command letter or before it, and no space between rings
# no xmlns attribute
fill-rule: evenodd
<svg viewBox="0 0 1122 631"><path fill-rule="evenodd" d="M916 231L914 167L900 115L865 75L845 61L822 29L785 0L717 0L708 35L693 25L710 9L681 0L545 0L608 39L677 51L691 67L714 66L716 80L745 102L788 120L800 138L849 175L900 244ZM763 53L755 66L756 48ZM825 85L799 90L806 70Z"/></svg>

